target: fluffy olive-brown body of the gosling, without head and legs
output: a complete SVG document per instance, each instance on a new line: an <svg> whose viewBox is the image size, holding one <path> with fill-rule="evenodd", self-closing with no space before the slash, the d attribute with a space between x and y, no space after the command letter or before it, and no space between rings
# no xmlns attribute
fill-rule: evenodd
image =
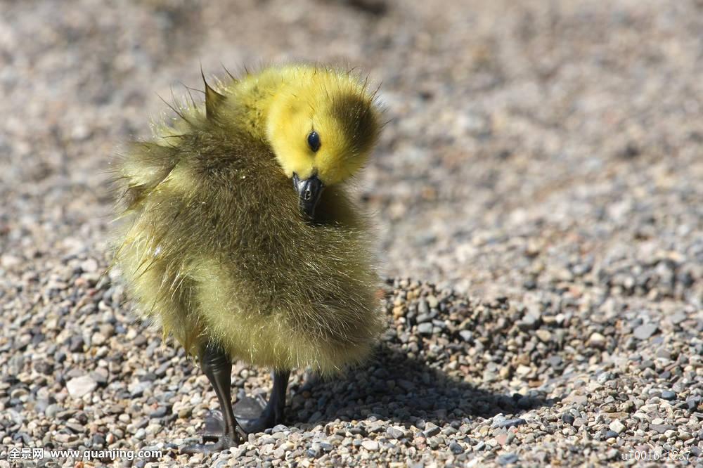
<svg viewBox="0 0 703 468"><path fill-rule="evenodd" d="M321 372L365 357L379 282L344 193L325 190L311 223L263 141L207 122L175 139L122 165L133 223L115 260L139 310L191 353L217 342L252 365Z"/></svg>

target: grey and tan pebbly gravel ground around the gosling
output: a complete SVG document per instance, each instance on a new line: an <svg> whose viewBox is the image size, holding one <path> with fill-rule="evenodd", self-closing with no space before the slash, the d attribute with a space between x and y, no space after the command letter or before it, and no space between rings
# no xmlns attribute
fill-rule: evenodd
<svg viewBox="0 0 703 468"><path fill-rule="evenodd" d="M631 450L703 465L701 1L0 13L0 467L12 448L163 452L117 466L633 464ZM200 63L291 59L382 83L390 122L359 185L389 327L344 379L295 373L289 427L188 458L174 447L217 401L101 279L109 155L148 134L157 94L200 86ZM238 396L269 389L264 370L234 372Z"/></svg>

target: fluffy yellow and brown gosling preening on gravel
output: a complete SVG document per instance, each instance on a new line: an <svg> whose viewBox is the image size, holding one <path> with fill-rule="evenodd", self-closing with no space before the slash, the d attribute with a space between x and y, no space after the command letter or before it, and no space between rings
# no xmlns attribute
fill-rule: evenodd
<svg viewBox="0 0 703 468"><path fill-rule="evenodd" d="M131 222L115 264L143 316L198 358L223 415L214 443L184 453L280 424L292 369L360 363L384 323L368 221L345 184L380 135L375 93L314 65L203 81L204 104L176 104L116 167ZM243 424L233 360L273 371L268 403Z"/></svg>

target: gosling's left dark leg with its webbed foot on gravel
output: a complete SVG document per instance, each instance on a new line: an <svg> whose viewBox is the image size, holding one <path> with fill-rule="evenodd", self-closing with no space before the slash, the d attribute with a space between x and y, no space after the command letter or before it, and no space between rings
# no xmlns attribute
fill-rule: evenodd
<svg viewBox="0 0 703 468"><path fill-rule="evenodd" d="M224 431L213 444L195 444L181 450L182 453L214 453L239 445L244 441L244 431L240 427L232 410L232 361L216 346L207 345L200 356L200 367L217 394L224 419Z"/></svg>

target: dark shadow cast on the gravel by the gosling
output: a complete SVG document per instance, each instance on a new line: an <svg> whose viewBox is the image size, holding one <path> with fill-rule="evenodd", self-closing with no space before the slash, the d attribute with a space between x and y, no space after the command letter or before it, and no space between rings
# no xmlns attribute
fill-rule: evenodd
<svg viewBox="0 0 703 468"><path fill-rule="evenodd" d="M366 365L333 379L309 375L291 391L288 420L314 424L339 418L441 426L476 416L515 415L548 405L542 398L480 389L388 344L382 344Z"/></svg>

